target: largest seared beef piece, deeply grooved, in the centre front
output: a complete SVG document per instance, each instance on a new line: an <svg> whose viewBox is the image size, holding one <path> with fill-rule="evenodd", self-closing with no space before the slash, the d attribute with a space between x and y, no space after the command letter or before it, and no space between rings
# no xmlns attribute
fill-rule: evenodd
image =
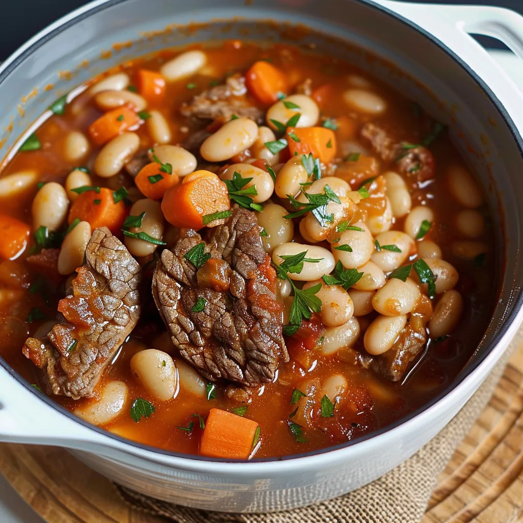
<svg viewBox="0 0 523 523"><path fill-rule="evenodd" d="M229 264L229 290L198 287L195 266L185 254L202 238L189 230L165 250L153 277L153 295L180 354L207 379L226 378L252 386L274 379L289 356L282 337L282 303L276 273L260 241L253 212L234 206L225 224L213 228L205 252ZM214 266L223 264L209 260ZM203 266L205 268L205 266ZM200 269L202 270L202 269ZM206 282L209 271L206 271ZM220 285L223 289L223 278ZM204 309L192 309L199 298Z"/></svg>

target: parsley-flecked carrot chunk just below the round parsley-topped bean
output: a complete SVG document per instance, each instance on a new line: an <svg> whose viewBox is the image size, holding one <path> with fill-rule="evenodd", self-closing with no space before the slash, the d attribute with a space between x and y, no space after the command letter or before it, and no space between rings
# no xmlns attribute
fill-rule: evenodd
<svg viewBox="0 0 523 523"><path fill-rule="evenodd" d="M309 154L328 164L336 155L336 135L325 127L300 127L287 129L287 142L291 157L294 153Z"/></svg>

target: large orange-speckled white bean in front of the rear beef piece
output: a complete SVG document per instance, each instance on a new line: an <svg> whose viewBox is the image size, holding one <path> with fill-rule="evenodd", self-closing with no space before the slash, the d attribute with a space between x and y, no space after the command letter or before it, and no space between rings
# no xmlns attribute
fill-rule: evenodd
<svg viewBox="0 0 523 523"><path fill-rule="evenodd" d="M200 147L208 162L223 162L251 147L258 138L258 126L248 118L236 118L211 134Z"/></svg>

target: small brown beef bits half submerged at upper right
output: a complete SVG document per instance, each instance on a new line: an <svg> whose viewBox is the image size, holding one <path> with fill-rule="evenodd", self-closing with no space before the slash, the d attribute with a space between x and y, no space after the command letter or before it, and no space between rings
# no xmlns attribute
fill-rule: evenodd
<svg viewBox="0 0 523 523"><path fill-rule="evenodd" d="M420 145L405 149L402 142L397 142L385 129L372 122L361 128L361 136L370 142L372 149L385 162L395 162L397 170L405 176L414 177L417 181L434 178L434 156L426 147Z"/></svg>

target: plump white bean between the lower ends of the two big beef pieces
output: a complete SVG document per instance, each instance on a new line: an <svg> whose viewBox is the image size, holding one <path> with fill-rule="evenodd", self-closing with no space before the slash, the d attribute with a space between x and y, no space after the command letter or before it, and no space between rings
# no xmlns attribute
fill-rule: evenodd
<svg viewBox="0 0 523 523"><path fill-rule="evenodd" d="M177 369L173 358L157 349L140 350L131 358L131 372L144 389L158 400L167 401L178 389Z"/></svg>

